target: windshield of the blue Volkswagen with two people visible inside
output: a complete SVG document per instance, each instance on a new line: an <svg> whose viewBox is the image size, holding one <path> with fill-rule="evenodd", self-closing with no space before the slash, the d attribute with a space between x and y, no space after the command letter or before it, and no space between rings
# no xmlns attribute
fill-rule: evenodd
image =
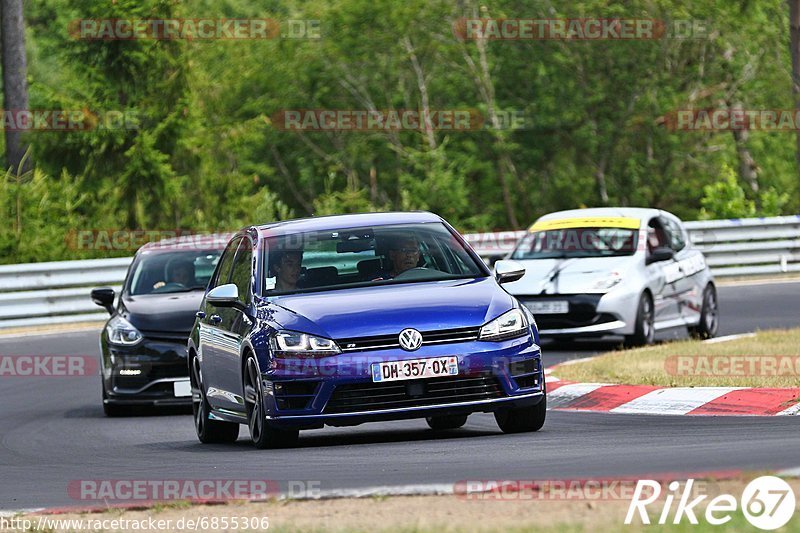
<svg viewBox="0 0 800 533"><path fill-rule="evenodd" d="M309 232L267 246L267 296L486 275L441 223Z"/></svg>

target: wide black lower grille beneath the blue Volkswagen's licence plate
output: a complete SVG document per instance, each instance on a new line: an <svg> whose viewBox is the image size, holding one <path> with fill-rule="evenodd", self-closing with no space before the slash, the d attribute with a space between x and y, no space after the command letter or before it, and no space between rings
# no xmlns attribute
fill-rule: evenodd
<svg viewBox="0 0 800 533"><path fill-rule="evenodd" d="M402 409L503 397L505 392L491 372L389 383L356 383L336 387L323 413Z"/></svg>

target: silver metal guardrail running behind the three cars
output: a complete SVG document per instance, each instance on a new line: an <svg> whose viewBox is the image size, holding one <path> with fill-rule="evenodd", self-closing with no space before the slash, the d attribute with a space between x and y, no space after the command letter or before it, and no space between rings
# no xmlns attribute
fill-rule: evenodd
<svg viewBox="0 0 800 533"><path fill-rule="evenodd" d="M687 222L691 241L717 277L800 272L800 215ZM466 234L475 251L498 259L524 231ZM0 329L103 320L92 287L119 290L131 257L0 265Z"/></svg>

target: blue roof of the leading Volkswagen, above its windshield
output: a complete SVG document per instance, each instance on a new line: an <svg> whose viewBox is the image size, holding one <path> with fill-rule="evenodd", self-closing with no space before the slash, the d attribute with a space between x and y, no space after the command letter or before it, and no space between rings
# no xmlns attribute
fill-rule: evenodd
<svg viewBox="0 0 800 533"><path fill-rule="evenodd" d="M347 228L388 226L394 224L424 224L441 222L438 215L426 211L358 213L354 215L330 215L323 217L298 218L255 226L262 237L304 233L308 231L333 231Z"/></svg>

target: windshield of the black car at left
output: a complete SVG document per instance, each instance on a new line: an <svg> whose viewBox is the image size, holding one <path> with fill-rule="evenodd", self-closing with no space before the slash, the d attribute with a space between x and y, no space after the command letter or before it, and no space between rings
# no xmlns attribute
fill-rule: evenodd
<svg viewBox="0 0 800 533"><path fill-rule="evenodd" d="M128 293L136 296L205 290L221 253L221 250L145 250L136 256L128 278Z"/></svg>

